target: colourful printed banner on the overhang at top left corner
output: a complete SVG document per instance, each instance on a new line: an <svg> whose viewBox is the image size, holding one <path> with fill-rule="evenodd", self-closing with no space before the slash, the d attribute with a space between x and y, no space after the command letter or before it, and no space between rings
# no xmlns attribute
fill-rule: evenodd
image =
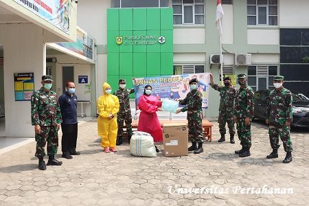
<svg viewBox="0 0 309 206"><path fill-rule="evenodd" d="M14 0L30 12L69 34L71 0Z"/></svg>

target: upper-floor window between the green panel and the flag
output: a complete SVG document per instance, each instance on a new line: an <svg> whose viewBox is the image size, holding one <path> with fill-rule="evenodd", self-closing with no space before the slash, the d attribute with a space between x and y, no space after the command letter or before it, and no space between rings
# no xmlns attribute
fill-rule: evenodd
<svg viewBox="0 0 309 206"><path fill-rule="evenodd" d="M172 0L174 25L203 25L204 0Z"/></svg>

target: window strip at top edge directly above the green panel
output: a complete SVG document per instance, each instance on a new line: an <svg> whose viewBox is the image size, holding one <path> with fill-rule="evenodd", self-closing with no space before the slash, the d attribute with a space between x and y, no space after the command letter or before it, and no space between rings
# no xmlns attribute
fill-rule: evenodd
<svg viewBox="0 0 309 206"><path fill-rule="evenodd" d="M112 8L168 7L168 0L113 0Z"/></svg>

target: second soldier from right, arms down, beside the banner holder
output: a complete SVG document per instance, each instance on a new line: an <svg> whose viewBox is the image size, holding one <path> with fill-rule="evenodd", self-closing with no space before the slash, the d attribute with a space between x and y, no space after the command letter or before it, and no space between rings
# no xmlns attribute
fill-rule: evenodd
<svg viewBox="0 0 309 206"><path fill-rule="evenodd" d="M251 120L254 115L254 93L251 87L247 85L247 75L238 74L237 78L240 89L236 92L233 114L242 149L236 150L235 153L239 154L239 157L248 157L251 155Z"/></svg>

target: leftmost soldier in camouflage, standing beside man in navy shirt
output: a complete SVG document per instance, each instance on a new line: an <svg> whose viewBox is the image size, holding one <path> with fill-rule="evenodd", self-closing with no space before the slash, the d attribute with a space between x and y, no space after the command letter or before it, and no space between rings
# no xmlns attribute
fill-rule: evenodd
<svg viewBox="0 0 309 206"><path fill-rule="evenodd" d="M58 98L52 88L52 76L42 76L43 87L35 91L31 98L32 125L34 125L36 139L36 154L38 157L38 168L46 170L45 145L47 142L47 165L62 165L61 161L55 159L58 150L58 130L62 122Z"/></svg>

